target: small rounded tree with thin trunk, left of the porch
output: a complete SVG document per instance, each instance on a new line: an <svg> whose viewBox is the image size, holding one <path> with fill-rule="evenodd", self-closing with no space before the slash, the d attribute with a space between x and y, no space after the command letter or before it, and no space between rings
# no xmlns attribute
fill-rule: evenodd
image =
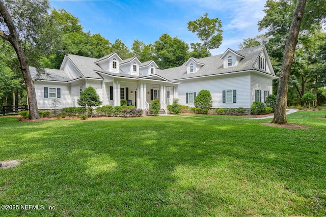
<svg viewBox="0 0 326 217"><path fill-rule="evenodd" d="M93 107L102 104L100 97L97 95L96 89L92 86L88 86L80 92L80 98L77 100L77 103L82 107L87 107L90 116L93 116Z"/></svg>

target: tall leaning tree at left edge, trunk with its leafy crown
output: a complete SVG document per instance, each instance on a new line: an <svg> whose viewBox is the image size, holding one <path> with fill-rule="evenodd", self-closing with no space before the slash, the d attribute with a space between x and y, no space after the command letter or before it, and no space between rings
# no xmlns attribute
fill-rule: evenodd
<svg viewBox="0 0 326 217"><path fill-rule="evenodd" d="M0 36L9 41L17 53L19 67L28 92L30 119L38 119L40 116L35 88L29 71L28 58L23 47L26 48L26 46L30 45L33 49L33 45L37 44L38 37L41 35L41 26L45 23L44 14L47 13L48 9L48 1L7 0L4 3L0 0Z"/></svg>

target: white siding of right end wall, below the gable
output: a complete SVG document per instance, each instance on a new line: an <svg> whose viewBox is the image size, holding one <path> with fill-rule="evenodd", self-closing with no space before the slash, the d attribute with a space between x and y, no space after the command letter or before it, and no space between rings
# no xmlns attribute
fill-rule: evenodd
<svg viewBox="0 0 326 217"><path fill-rule="evenodd" d="M261 102L265 102L264 91L273 94L273 79L259 74L251 74L251 104L255 102L255 90L261 90Z"/></svg>

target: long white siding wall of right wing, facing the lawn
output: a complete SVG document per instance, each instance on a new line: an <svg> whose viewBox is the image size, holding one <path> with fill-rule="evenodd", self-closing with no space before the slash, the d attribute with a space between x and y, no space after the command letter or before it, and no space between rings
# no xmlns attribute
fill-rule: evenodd
<svg viewBox="0 0 326 217"><path fill-rule="evenodd" d="M194 104L186 104L186 92L196 92L198 95L202 89L207 89L212 95L213 108L250 108L250 74L241 73L233 75L221 75L202 79L181 81L178 87L179 104L195 107ZM223 90L236 90L236 103L223 103Z"/></svg>

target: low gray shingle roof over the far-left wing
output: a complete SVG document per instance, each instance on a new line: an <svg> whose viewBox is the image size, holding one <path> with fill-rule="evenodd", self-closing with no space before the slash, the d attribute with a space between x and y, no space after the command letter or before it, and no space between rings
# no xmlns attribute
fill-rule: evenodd
<svg viewBox="0 0 326 217"><path fill-rule="evenodd" d="M59 69L44 69L45 74L37 74L35 67L30 67L32 79L47 80L47 81L69 81L68 75L63 70Z"/></svg>

